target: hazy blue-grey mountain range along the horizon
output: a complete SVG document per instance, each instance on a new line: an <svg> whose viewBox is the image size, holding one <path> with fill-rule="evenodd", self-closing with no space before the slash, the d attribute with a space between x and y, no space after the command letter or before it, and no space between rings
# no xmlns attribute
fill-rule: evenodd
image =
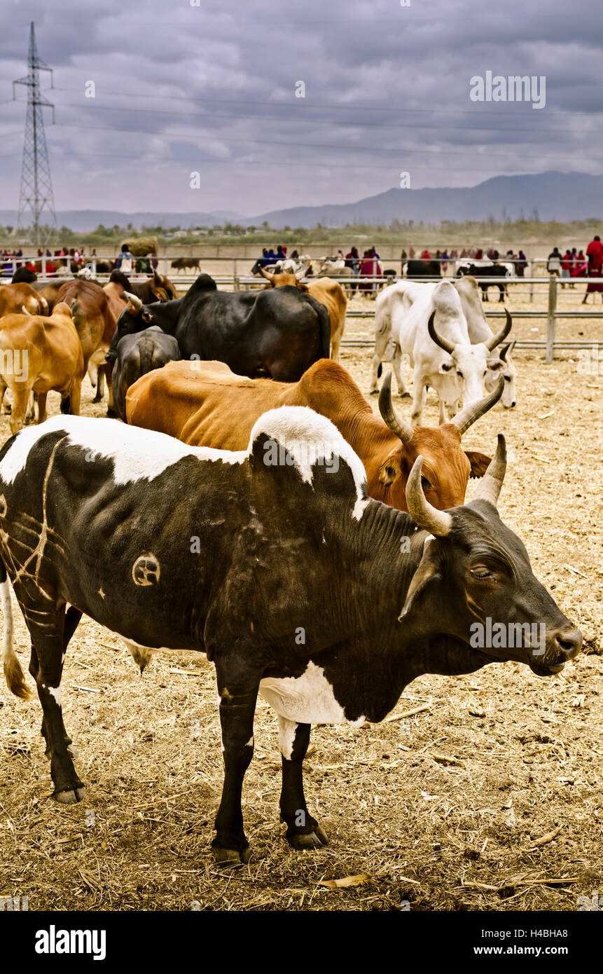
<svg viewBox="0 0 603 974"><path fill-rule="evenodd" d="M442 220L463 222L483 220L489 215L499 219L505 212L509 219L521 214L529 219L534 211L539 218L550 220L581 220L603 218L603 176L584 172L541 172L537 175L494 176L477 186L426 189L389 189L377 196L366 197L358 203L322 206L291 206L274 209L257 216L243 216L231 210L210 213L123 213L106 209L73 209L57 212L59 226L67 226L78 233L94 230L99 223L136 229L142 226L223 225L230 220L245 227L261 227L267 221L275 229L289 227L345 226L350 223L385 223L392 220L414 220L418 223L440 223ZM0 210L0 223L15 225L16 210Z"/></svg>

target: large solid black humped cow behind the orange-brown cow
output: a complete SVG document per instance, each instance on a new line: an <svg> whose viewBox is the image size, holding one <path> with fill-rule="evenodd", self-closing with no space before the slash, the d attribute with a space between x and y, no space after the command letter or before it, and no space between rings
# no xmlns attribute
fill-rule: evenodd
<svg viewBox="0 0 603 974"><path fill-rule="evenodd" d="M124 335L157 324L173 335L183 358L217 359L238 375L297 382L330 352L324 305L296 287L218 291L202 274L184 297L163 304L129 302L120 315L107 361Z"/></svg>

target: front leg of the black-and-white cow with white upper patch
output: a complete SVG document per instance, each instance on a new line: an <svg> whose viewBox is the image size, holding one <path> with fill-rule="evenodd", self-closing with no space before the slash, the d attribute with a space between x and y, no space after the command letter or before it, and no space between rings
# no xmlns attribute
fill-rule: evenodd
<svg viewBox="0 0 603 974"><path fill-rule="evenodd" d="M310 743L310 724L297 724L279 715L279 743L283 759L281 819L286 838L296 849L318 849L327 845L324 830L308 811L304 796L303 761Z"/></svg>

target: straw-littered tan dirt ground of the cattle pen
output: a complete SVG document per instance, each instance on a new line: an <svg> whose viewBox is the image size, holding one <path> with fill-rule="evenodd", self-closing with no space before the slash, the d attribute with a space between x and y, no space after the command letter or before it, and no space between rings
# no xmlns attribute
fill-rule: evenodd
<svg viewBox="0 0 603 974"><path fill-rule="evenodd" d="M578 308L582 293L561 292L560 306ZM511 311L530 307L546 308L546 294L529 305L511 290ZM513 333L545 329L545 319L518 319ZM347 337L371 331L370 319L351 319ZM561 336L579 332L603 339L603 319L559 326ZM212 666L201 655L156 656L141 678L121 643L84 620L63 676L82 804L50 798L37 699L2 689L0 895L27 895L30 910L574 911L603 888L603 356L590 374L568 352L550 366L541 351L514 360L516 408L485 416L467 446L491 453L505 431L499 508L582 627L584 654L548 679L514 663L425 676L381 725L315 728L306 794L330 840L318 852L283 839L277 721L260 702L245 778L253 856L224 874L209 851L222 782ZM369 361L370 349L343 352L365 392ZM87 383L83 412L101 416L92 395ZM395 404L407 417L409 400ZM49 406L57 412L56 395ZM433 397L425 422L437 422ZM3 416L0 441L8 434ZM26 668L15 599L14 608ZM321 884L347 877L358 885Z"/></svg>

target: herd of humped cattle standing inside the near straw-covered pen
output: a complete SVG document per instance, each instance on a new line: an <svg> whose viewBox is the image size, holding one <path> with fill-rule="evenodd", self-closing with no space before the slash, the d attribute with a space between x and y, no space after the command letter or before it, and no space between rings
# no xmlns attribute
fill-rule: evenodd
<svg viewBox="0 0 603 974"><path fill-rule="evenodd" d="M313 848L326 842L303 790L313 723L378 722L420 674L503 659L557 673L582 646L498 514L504 437L493 459L462 445L499 400L515 404L509 313L493 334L472 276L386 288L370 386L379 417L336 361L340 284L263 277L260 291L228 292L202 274L180 298L157 273L0 287L0 395L11 393L18 433L0 451L8 685L29 693L12 583L55 797L70 804L84 784L59 688L82 615L117 633L141 670L153 650L206 653L225 766L212 844L230 864L249 856L241 796L258 693L279 718L287 839ZM414 369L410 423L391 372L378 388L385 360L408 394L401 356ZM106 380L124 422L77 415L87 372L95 401ZM429 388L435 427L418 425ZM44 422L53 390L72 415ZM21 429L36 399L41 425ZM470 476L481 481L466 505ZM488 619L514 638L477 647L471 625Z"/></svg>

